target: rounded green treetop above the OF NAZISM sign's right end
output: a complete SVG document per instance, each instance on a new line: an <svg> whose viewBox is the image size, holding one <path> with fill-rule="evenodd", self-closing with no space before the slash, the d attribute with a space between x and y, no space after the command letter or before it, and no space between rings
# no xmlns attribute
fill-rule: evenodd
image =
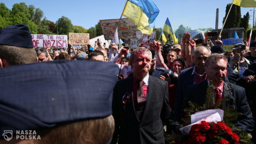
<svg viewBox="0 0 256 144"><path fill-rule="evenodd" d="M58 34L68 35L69 32L74 32L73 24L70 19L65 16L59 18L56 22Z"/></svg>

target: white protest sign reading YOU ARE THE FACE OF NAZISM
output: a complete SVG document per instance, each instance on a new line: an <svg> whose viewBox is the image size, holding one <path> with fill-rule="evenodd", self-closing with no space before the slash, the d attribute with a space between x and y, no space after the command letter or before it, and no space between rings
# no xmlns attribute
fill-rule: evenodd
<svg viewBox="0 0 256 144"><path fill-rule="evenodd" d="M51 35L51 34L31 34L32 45L34 48L51 46L53 48L67 48L68 36L66 35Z"/></svg>

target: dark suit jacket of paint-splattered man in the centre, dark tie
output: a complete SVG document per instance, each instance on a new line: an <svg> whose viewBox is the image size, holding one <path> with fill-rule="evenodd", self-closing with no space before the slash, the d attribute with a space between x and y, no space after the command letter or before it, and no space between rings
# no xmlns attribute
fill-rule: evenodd
<svg viewBox="0 0 256 144"><path fill-rule="evenodd" d="M141 121L136 115L132 96L132 76L118 81L114 88L112 111L115 119L115 132L112 144L164 144L165 124L178 129L180 125L170 120L171 108L168 105L168 84L166 81L149 76L148 95ZM130 99L124 104L124 95ZM177 125L176 125L177 124Z"/></svg>

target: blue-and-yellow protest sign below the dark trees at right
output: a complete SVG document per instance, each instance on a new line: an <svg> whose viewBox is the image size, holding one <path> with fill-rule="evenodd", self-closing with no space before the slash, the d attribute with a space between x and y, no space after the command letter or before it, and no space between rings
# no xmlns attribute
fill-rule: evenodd
<svg viewBox="0 0 256 144"><path fill-rule="evenodd" d="M225 52L232 52L235 44L241 43L242 41L242 38L222 39L222 48Z"/></svg>

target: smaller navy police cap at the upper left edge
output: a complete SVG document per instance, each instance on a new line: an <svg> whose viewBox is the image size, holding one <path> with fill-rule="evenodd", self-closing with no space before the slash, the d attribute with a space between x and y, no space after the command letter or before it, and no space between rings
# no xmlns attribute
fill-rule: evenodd
<svg viewBox="0 0 256 144"><path fill-rule="evenodd" d="M7 26L0 31L0 45L33 48L32 37L26 24Z"/></svg>

